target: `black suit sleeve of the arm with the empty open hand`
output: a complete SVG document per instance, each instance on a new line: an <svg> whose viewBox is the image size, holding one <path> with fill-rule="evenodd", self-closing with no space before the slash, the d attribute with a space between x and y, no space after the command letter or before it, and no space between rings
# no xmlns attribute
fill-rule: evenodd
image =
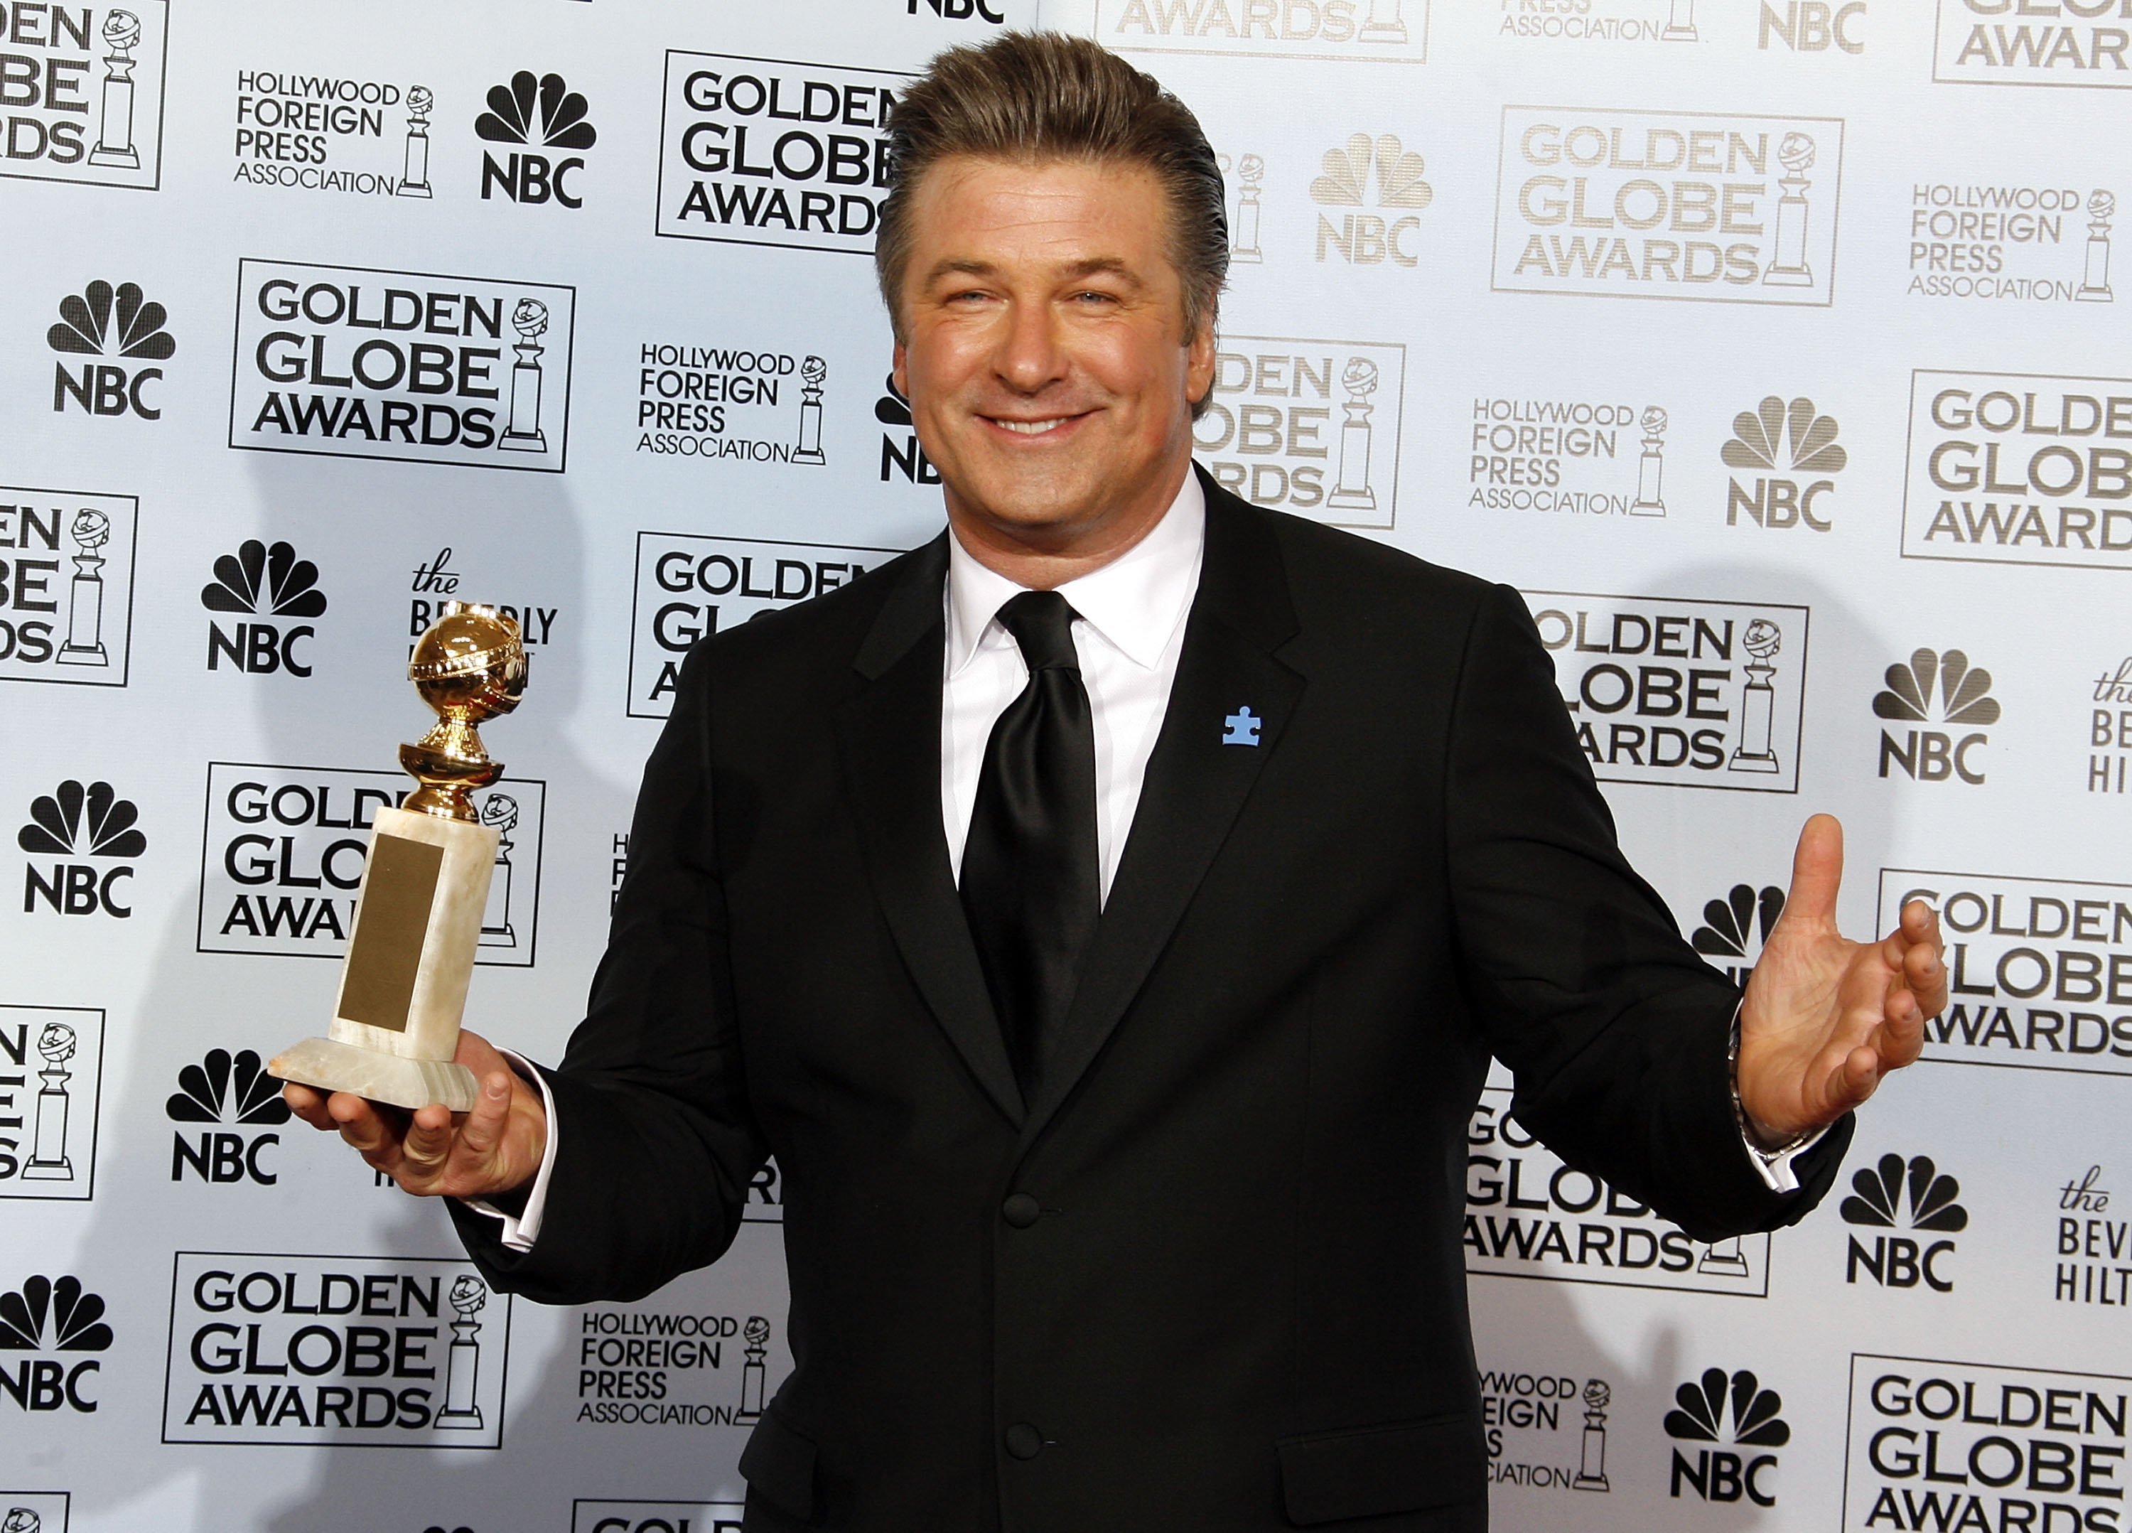
<svg viewBox="0 0 2132 1533"><path fill-rule="evenodd" d="M1569 1164L1714 1241L1793 1224L1827 1192L1844 1117L1772 1192L1748 1164L1727 1045L1740 991L1680 938L1614 836L1554 661L1492 588L1467 635L1445 778L1452 910L1516 1113Z"/></svg>

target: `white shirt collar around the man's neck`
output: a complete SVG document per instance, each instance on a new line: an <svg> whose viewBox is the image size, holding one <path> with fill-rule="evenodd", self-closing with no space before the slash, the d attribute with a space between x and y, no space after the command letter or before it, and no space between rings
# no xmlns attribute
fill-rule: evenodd
<svg viewBox="0 0 2132 1533"><path fill-rule="evenodd" d="M1124 554L1060 586L1092 629L1143 669L1162 659L1198 591L1207 548L1207 493L1198 473L1185 482L1147 535ZM983 642L994 616L1023 586L981 565L962 539L947 539L947 674L953 676Z"/></svg>

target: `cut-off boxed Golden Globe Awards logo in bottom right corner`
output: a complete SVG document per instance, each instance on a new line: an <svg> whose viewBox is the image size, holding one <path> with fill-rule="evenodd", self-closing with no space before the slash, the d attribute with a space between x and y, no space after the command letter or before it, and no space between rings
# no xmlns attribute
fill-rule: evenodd
<svg viewBox="0 0 2132 1533"><path fill-rule="evenodd" d="M2079 1343L2057 1352L2081 1356ZM2115 1362L2123 1350L2089 1354ZM2113 1527L2123 1520L2128 1392L2132 1379L2104 1373L1855 1352L1838 1527ZM1838 1416L1834 1401L1827 1416Z"/></svg>

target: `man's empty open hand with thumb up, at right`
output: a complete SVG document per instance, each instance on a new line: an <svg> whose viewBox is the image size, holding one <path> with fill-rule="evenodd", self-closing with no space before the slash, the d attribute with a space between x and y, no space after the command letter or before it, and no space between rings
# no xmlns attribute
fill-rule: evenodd
<svg viewBox="0 0 2132 1533"><path fill-rule="evenodd" d="M1880 1077L1917 1060L1925 1017L1947 1006L1940 917L1912 900L1885 938L1851 942L1836 930L1842 876L1844 827L1814 814L1740 1011L1740 1107L1772 1145L1872 1096Z"/></svg>

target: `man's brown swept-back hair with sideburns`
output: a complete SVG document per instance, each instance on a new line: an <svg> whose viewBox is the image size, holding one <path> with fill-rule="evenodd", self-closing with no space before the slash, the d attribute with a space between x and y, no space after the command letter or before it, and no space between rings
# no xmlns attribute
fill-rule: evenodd
<svg viewBox="0 0 2132 1533"><path fill-rule="evenodd" d="M1185 339L1213 322L1228 277L1222 166L1192 109L1100 43L1062 32L1006 32L934 58L889 117L889 196L874 273L895 337L910 262L910 198L949 156L1138 164L1170 203L1170 264L1185 290Z"/></svg>

